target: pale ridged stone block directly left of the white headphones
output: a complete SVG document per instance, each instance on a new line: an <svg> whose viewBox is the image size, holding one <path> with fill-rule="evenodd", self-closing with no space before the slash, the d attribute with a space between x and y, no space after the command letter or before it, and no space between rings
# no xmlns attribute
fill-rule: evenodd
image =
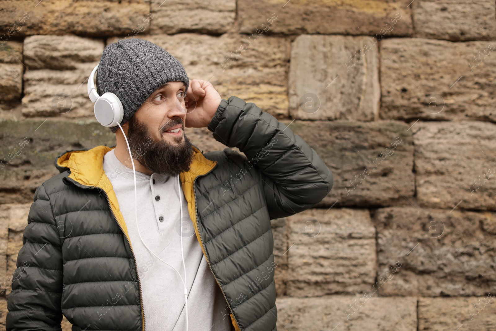
<svg viewBox="0 0 496 331"><path fill-rule="evenodd" d="M93 116L87 79L100 61L103 49L103 41L77 36L27 37L24 116Z"/></svg>

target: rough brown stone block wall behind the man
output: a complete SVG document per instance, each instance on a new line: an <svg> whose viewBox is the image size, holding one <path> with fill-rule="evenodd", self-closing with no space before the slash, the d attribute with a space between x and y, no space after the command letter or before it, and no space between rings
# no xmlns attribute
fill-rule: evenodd
<svg viewBox="0 0 496 331"><path fill-rule="evenodd" d="M278 330L496 328L494 0L0 0L0 31L1 328L55 156L115 143L86 79L119 38L254 102L333 172L272 221Z"/></svg>

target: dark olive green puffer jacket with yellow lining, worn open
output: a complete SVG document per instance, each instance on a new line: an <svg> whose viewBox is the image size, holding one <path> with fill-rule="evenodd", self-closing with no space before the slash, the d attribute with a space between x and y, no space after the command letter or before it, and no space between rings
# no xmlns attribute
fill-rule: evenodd
<svg viewBox="0 0 496 331"><path fill-rule="evenodd" d="M253 103L222 100L208 129L236 146L194 148L180 175L199 245L236 330L276 330L270 219L310 208L331 190L332 173L305 141ZM98 146L56 160L24 230L6 330L146 330L141 287L124 217ZM194 318L194 317L191 317ZM207 326L206 326L207 327ZM207 328L205 328L206 330Z"/></svg>

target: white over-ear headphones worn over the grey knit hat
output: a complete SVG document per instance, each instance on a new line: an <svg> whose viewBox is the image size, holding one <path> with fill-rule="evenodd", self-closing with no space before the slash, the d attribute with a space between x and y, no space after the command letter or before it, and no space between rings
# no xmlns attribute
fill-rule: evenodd
<svg viewBox="0 0 496 331"><path fill-rule="evenodd" d="M119 97L112 92L98 95L95 88L95 72L98 65L91 71L88 78L88 96L95 103L94 111L97 121L104 127L117 127L124 117L124 107Z"/></svg>

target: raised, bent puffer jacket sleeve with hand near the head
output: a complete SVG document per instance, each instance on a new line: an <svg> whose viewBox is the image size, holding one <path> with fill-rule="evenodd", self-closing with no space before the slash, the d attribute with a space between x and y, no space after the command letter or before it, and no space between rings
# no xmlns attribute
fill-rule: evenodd
<svg viewBox="0 0 496 331"><path fill-rule="evenodd" d="M254 176L271 218L308 209L332 188L332 173L313 148L254 103L223 99L208 129L217 141L245 153L247 171L258 170Z"/></svg>

